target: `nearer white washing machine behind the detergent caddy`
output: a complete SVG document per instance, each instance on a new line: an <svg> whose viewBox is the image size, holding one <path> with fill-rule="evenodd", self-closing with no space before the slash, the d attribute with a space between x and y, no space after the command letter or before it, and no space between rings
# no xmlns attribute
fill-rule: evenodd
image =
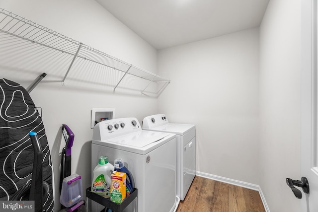
<svg viewBox="0 0 318 212"><path fill-rule="evenodd" d="M101 155L111 164L122 158L138 189L138 212L173 212L179 203L172 189L176 147L175 134L144 131L136 118L102 121L93 132L92 169Z"/></svg>

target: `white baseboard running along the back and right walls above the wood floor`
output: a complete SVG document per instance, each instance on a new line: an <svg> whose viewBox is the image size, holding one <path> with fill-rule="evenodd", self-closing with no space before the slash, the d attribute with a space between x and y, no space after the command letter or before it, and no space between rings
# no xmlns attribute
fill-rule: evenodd
<svg viewBox="0 0 318 212"><path fill-rule="evenodd" d="M215 181L219 181L219 182L223 182L223 183L228 183L228 184L231 184L231 185L235 185L235 186L240 186L240 187L243 187L243 188L247 188L247 189L251 189L251 190L254 190L254 191L258 191L259 192L259 196L263 202L263 205L264 205L264 209L266 212L270 212L269 211L269 208L268 208L268 205L265 201L265 197L264 197L264 194L260 188L259 185L256 185L256 184L252 184L252 183L246 183L246 182L242 182L242 181L239 181L239 180L233 180L233 179L230 179L230 178L226 178L226 177L221 177L221 176L217 176L217 175L213 175L213 174L208 174L208 173L204 173L204 172L200 172L200 171L197 171L196 172L196 175L199 176L199 177L204 177L204 178L208 178L208 179L211 179L211 180L215 180Z"/></svg>

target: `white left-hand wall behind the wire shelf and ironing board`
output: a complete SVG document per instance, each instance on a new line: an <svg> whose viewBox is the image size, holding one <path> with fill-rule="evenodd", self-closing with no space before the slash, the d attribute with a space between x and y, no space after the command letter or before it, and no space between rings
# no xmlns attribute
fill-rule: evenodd
<svg viewBox="0 0 318 212"><path fill-rule="evenodd" d="M94 0L0 0L0 7L137 67L157 71L157 51ZM47 73L49 77L50 72ZM16 81L25 87L35 76L0 67L1 78ZM65 145L60 131L62 124L67 124L75 134L72 173L81 175L83 187L87 188L91 183L90 110L93 107L115 108L116 118L136 117L141 122L146 115L157 112L157 100L141 95L80 89L81 84L76 88L67 85L62 87L61 82L47 83L44 78L31 92L31 97L43 109L56 185L59 184L59 152ZM58 186L55 197L55 210L58 211Z"/></svg>

